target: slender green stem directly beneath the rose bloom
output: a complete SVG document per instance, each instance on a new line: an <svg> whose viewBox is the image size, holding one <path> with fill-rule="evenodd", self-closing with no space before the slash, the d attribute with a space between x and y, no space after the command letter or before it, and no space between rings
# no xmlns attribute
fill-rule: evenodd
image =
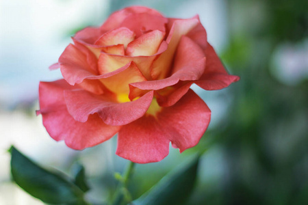
<svg viewBox="0 0 308 205"><path fill-rule="evenodd" d="M125 170L122 179L118 183L118 187L116 187L116 192L114 193L114 196L112 197L112 205L128 204L130 202L129 198L131 197L131 195L127 190L127 184L133 172L134 165L135 163L129 161L129 165Z"/></svg>

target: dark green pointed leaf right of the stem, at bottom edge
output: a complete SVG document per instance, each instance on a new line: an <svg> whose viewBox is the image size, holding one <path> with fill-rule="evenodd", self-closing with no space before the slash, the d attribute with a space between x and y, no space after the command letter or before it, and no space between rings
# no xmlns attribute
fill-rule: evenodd
<svg viewBox="0 0 308 205"><path fill-rule="evenodd" d="M194 188L198 161L199 156L195 156L188 163L173 170L131 204L183 204Z"/></svg>

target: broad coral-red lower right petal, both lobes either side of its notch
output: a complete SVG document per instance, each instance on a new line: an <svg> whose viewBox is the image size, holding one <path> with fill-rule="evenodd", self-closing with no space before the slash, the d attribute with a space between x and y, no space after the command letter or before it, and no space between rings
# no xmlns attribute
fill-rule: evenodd
<svg viewBox="0 0 308 205"><path fill-rule="evenodd" d="M123 126L118 133L116 154L136 163L161 161L168 155L170 141L183 152L196 146L207 129L210 115L205 102L190 90L156 116L145 115Z"/></svg>

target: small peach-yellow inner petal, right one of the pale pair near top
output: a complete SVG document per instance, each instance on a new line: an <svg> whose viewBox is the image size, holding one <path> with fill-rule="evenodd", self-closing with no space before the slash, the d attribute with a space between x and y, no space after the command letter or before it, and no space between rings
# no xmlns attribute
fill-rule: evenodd
<svg viewBox="0 0 308 205"><path fill-rule="evenodd" d="M165 33L158 30L145 33L128 44L126 53L129 56L154 55L157 53L164 36Z"/></svg>

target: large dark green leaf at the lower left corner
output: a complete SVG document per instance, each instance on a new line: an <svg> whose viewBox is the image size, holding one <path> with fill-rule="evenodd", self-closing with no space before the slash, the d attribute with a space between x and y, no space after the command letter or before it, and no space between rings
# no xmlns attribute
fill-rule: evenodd
<svg viewBox="0 0 308 205"><path fill-rule="evenodd" d="M12 177L27 193L48 204L86 204L84 193L62 174L43 169L14 146L10 153Z"/></svg>

